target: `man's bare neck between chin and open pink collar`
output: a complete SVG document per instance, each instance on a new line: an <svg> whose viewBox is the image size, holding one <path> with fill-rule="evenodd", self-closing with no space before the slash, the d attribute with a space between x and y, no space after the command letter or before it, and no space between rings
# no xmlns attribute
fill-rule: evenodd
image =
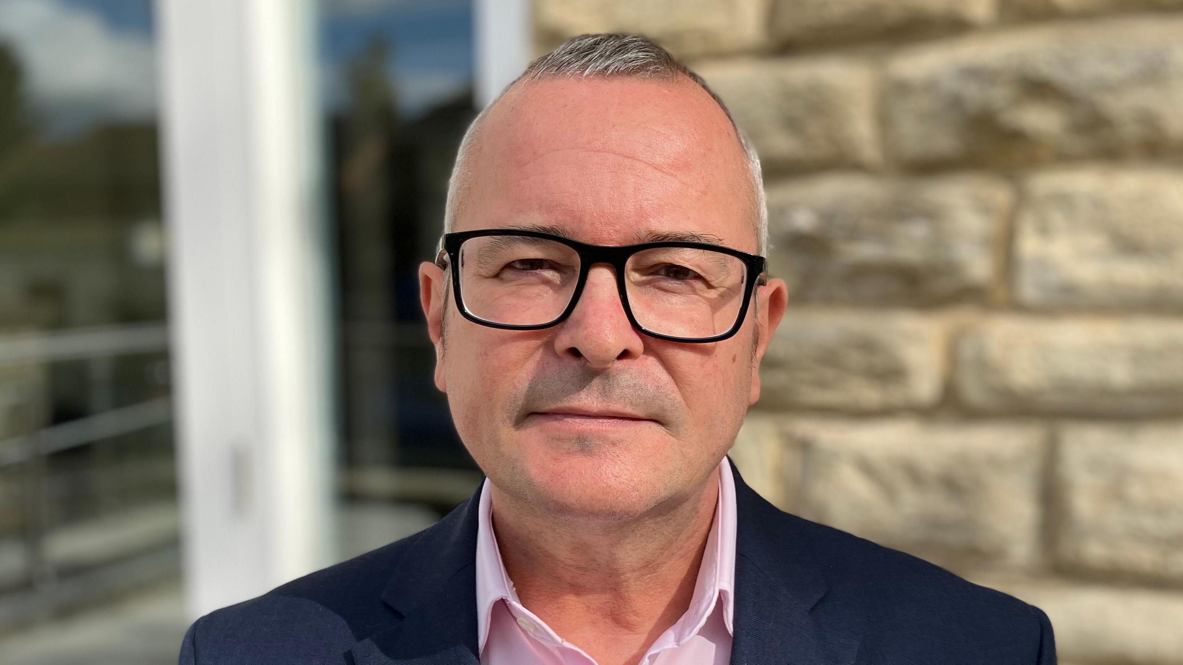
<svg viewBox="0 0 1183 665"><path fill-rule="evenodd" d="M681 501L607 524L491 490L498 549L522 605L596 663L636 663L690 607L718 473Z"/></svg>

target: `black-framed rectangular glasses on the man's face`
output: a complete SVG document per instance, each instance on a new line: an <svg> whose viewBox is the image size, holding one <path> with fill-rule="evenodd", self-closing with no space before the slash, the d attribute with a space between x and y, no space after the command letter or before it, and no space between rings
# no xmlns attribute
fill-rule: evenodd
<svg viewBox="0 0 1183 665"><path fill-rule="evenodd" d="M628 321L672 342L719 342L739 331L764 258L709 243L588 245L541 231L447 233L435 263L452 267L460 314L505 330L558 325L578 303L595 264L616 272Z"/></svg>

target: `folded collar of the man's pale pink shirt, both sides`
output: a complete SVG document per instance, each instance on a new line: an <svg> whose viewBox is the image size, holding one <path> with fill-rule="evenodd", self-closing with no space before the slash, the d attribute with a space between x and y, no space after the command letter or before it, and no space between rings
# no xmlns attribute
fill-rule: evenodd
<svg viewBox="0 0 1183 665"><path fill-rule="evenodd" d="M719 463L719 496L716 503L711 531L706 537L703 562L694 582L694 594L686 613L670 628L674 641L681 644L698 633L716 608L722 603L723 621L728 632L735 634L736 577L736 486L731 464L726 458ZM486 478L480 490L477 509L477 645L485 650L493 605L505 600L521 605L513 582L505 572L497 536L493 534L492 498Z"/></svg>

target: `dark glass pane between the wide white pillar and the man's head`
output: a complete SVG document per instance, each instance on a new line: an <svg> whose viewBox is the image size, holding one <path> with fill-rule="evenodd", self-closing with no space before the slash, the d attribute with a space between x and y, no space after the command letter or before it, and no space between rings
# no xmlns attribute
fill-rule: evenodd
<svg viewBox="0 0 1183 665"><path fill-rule="evenodd" d="M433 382L418 271L434 254L455 150L476 116L472 6L318 6L337 228L345 490L442 508L474 489L476 465Z"/></svg>

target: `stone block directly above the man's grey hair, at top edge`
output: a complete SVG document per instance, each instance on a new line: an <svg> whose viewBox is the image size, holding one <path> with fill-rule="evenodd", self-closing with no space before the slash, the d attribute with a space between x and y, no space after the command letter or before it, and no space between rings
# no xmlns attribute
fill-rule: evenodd
<svg viewBox="0 0 1183 665"><path fill-rule="evenodd" d="M534 0L538 45L550 51L589 32L645 34L679 57L758 51L770 0Z"/></svg>

